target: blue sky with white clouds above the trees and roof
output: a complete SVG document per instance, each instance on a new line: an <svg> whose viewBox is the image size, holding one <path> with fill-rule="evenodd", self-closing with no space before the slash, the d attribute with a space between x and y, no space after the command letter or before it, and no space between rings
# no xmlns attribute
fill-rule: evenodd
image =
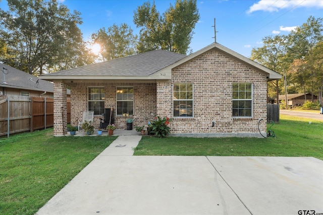
<svg viewBox="0 0 323 215"><path fill-rule="evenodd" d="M133 23L134 11L142 0L60 0L70 11L81 13L79 26L85 40L99 28L127 23L139 34ZM176 0L155 0L160 14ZM152 0L150 1L152 3ZM7 2L0 7L6 10ZM323 18L322 0L198 0L200 20L196 24L190 47L193 52L214 42L213 22L216 18L217 42L250 57L253 47L260 47L265 36L288 34L306 22L309 16Z"/></svg>

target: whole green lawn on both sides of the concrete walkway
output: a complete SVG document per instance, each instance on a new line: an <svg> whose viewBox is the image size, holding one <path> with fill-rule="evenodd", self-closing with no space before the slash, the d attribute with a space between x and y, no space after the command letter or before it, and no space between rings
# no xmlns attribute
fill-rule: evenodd
<svg viewBox="0 0 323 215"><path fill-rule="evenodd" d="M281 115L280 124L272 129L276 138L143 136L134 154L310 156L323 160L323 121ZM115 138L53 137L52 128L0 138L0 214L34 214Z"/></svg>

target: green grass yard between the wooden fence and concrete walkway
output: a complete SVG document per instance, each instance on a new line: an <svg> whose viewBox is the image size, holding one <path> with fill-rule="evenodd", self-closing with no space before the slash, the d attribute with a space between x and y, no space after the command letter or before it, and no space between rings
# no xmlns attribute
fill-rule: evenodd
<svg viewBox="0 0 323 215"><path fill-rule="evenodd" d="M0 214L34 214L115 138L52 128L0 138Z"/></svg>

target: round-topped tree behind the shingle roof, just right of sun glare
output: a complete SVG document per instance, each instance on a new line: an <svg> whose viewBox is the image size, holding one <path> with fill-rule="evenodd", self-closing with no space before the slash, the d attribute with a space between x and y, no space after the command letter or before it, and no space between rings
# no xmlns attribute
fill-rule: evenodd
<svg viewBox="0 0 323 215"><path fill-rule="evenodd" d="M107 30L99 29L92 34L92 44L98 43L101 46L101 57L103 60L112 60L137 53L137 35L126 23L117 26L114 24Z"/></svg>

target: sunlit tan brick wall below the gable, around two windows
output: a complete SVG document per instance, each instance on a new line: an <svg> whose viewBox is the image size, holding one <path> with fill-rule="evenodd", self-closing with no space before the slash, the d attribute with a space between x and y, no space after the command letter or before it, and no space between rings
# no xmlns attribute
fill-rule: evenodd
<svg viewBox="0 0 323 215"><path fill-rule="evenodd" d="M252 118L232 117L232 83L237 82L253 84ZM175 118L172 133L258 133L258 120L266 118L266 77L214 50L173 69L172 83L193 83L194 88L194 118ZM172 89L171 83L157 83L160 116L173 114ZM266 132L265 123L260 130Z"/></svg>

